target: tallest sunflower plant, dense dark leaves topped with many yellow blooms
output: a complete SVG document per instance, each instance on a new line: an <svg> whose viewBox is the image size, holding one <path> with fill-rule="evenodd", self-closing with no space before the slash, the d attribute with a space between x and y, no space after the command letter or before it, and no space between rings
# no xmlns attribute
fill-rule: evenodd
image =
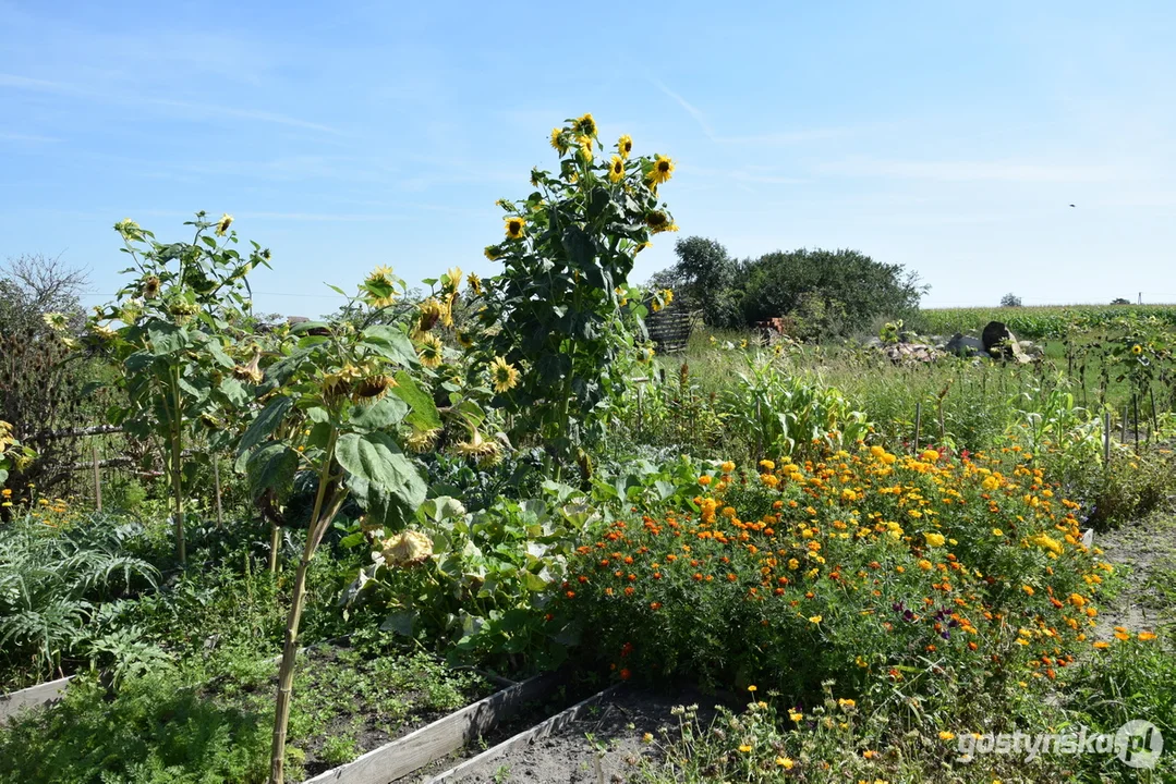
<svg viewBox="0 0 1176 784"><path fill-rule="evenodd" d="M657 202L669 159L629 159L632 141L612 161L594 158L592 115L568 120L552 143L560 170L533 170L534 193L499 202L507 237L487 255L503 270L487 282L479 319L488 329L473 350L519 369L496 401L515 417L512 436L537 438L567 465L603 434L637 356L646 307L627 282L636 254L677 227Z"/></svg>

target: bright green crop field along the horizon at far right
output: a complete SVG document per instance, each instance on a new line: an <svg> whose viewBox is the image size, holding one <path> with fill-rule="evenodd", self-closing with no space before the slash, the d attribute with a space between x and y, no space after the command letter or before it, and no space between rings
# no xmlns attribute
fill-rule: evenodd
<svg viewBox="0 0 1176 784"><path fill-rule="evenodd" d="M921 333L950 335L980 331L989 321L1003 321L1017 337L1063 337L1070 324L1101 327L1124 319L1154 317L1176 328L1176 304L1065 304L1024 308L931 308L920 310Z"/></svg>

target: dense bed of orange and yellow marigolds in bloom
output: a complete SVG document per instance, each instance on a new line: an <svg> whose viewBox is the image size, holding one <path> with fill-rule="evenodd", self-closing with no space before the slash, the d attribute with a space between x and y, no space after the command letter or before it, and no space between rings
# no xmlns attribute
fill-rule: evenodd
<svg viewBox="0 0 1176 784"><path fill-rule="evenodd" d="M560 607L621 679L696 677L815 697L1064 676L1110 565L1031 455L881 447L757 474L723 463L694 509L579 548Z"/></svg>

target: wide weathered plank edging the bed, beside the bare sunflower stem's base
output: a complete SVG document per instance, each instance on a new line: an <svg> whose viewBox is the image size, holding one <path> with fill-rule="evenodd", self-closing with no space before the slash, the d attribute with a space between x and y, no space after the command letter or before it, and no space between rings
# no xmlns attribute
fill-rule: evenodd
<svg viewBox="0 0 1176 784"><path fill-rule="evenodd" d="M562 681L562 675L556 672L535 676L386 743L346 765L308 778L303 784L388 784L473 743L524 703L547 695Z"/></svg>

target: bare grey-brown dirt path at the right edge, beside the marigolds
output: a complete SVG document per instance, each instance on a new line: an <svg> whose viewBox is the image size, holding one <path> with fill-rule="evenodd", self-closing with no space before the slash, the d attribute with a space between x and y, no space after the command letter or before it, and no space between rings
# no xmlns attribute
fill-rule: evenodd
<svg viewBox="0 0 1176 784"><path fill-rule="evenodd" d="M1094 544L1116 570L1110 601L1100 607L1098 639L1115 626L1131 634L1176 622L1176 514L1155 514L1105 534Z"/></svg>

